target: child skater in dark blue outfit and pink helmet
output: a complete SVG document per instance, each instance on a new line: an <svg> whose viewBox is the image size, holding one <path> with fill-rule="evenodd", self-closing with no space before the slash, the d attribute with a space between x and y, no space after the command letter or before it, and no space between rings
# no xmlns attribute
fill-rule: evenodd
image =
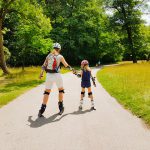
<svg viewBox="0 0 150 150"><path fill-rule="evenodd" d="M92 70L89 67L89 62L87 60L83 60L81 62L81 73L77 74L75 72L75 74L78 77L81 77L81 100L80 100L79 110L82 110L83 108L82 106L83 106L83 98L85 96L85 88L88 89L88 97L91 99L91 110L96 110L94 107L94 99L93 99L90 79L92 79L94 86L96 86L96 84L95 84L95 78L92 76L91 71Z"/></svg>

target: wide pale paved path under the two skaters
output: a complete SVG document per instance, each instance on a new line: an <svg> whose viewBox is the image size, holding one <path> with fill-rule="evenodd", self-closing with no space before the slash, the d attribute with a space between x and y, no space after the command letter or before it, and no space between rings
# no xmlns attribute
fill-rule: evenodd
<svg viewBox="0 0 150 150"><path fill-rule="evenodd" d="M71 73L63 78L66 93L61 117L56 115L58 93L53 92L45 118L37 118L44 85L0 109L0 150L150 150L150 130L100 84L93 88L97 110L89 110L86 97L79 112L80 79Z"/></svg>

